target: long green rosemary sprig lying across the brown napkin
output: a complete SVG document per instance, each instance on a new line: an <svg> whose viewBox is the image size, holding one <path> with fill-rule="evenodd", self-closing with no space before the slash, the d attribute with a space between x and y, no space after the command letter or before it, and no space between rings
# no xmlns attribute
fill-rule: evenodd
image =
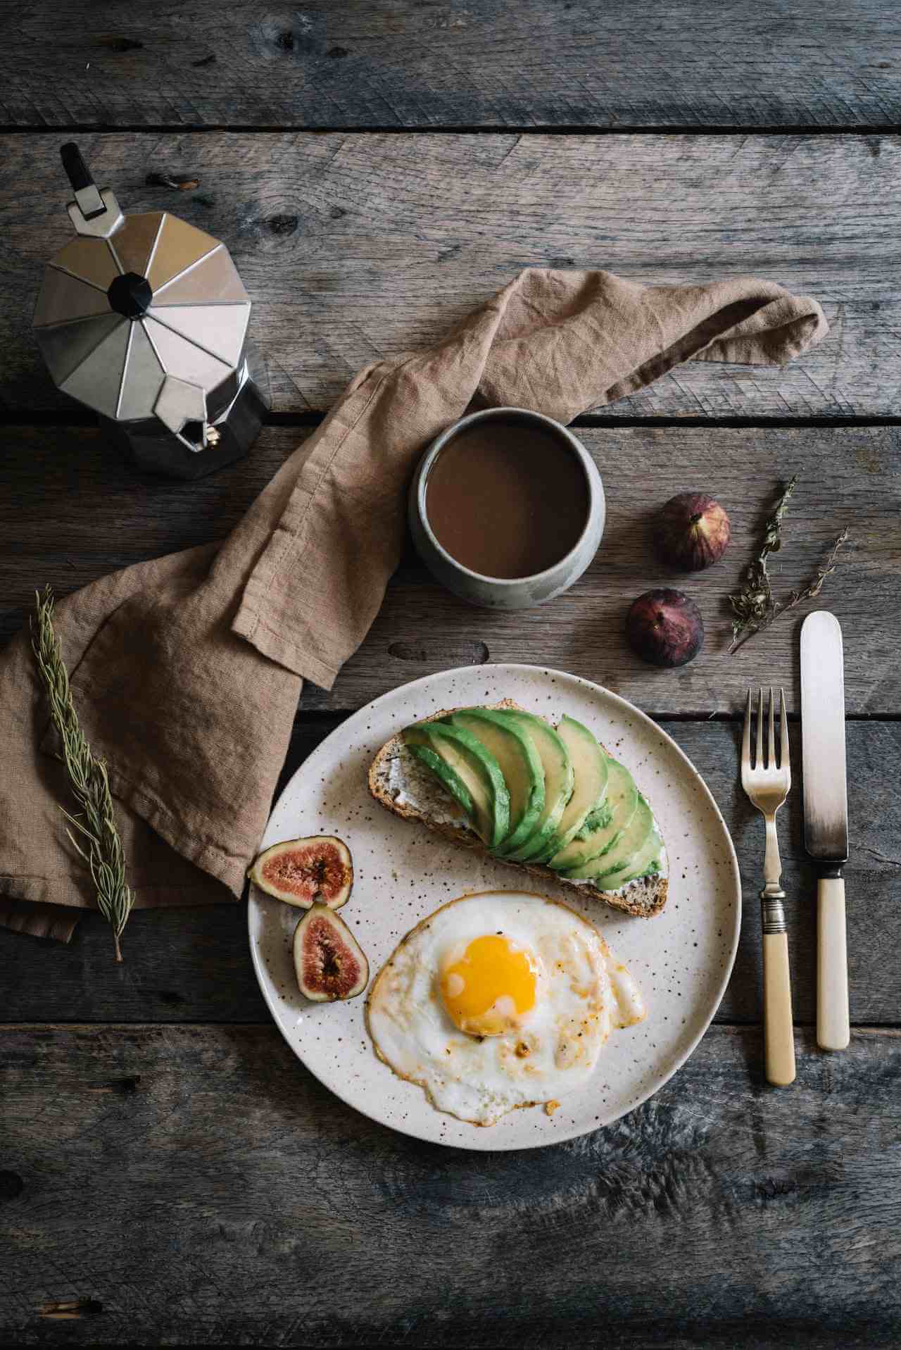
<svg viewBox="0 0 901 1350"><path fill-rule="evenodd" d="M112 926L116 960L121 961L119 938L128 922L134 895L125 883L125 855L116 829L107 767L92 753L76 713L59 639L53 626L53 591L49 586L43 595L35 591L31 647L50 701L53 725L62 742L59 757L66 765L71 791L81 807L78 815L70 815L65 807L61 810L86 841L85 848L78 844L71 830L67 829L66 834L90 868L97 891L97 909Z"/></svg>

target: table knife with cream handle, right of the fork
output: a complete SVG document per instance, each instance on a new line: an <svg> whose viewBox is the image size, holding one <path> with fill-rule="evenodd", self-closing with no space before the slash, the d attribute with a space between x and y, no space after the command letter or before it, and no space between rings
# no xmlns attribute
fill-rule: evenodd
<svg viewBox="0 0 901 1350"><path fill-rule="evenodd" d="M820 864L817 884L816 1040L824 1050L850 1041L843 864L848 859L844 751L844 653L835 614L801 625L804 842Z"/></svg>

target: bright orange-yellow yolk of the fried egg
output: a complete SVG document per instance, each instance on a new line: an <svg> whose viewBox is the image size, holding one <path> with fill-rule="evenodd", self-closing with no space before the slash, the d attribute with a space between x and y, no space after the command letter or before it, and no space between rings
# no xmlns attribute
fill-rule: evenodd
<svg viewBox="0 0 901 1350"><path fill-rule="evenodd" d="M537 963L527 948L503 933L469 942L463 957L441 971L448 1017L469 1035L503 1035L535 1004Z"/></svg>

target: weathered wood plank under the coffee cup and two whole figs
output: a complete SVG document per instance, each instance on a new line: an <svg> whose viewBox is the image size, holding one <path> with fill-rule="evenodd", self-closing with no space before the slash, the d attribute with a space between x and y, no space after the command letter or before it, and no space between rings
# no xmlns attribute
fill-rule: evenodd
<svg viewBox="0 0 901 1350"><path fill-rule="evenodd" d="M198 483L136 479L89 429L5 432L0 490L0 630L22 624L35 586L61 594L116 567L221 539L306 433L267 428L248 459ZM844 625L852 713L901 709L901 437L896 428L583 428L600 467L608 524L583 579L552 605L517 614L472 609L442 591L411 552L382 613L335 690L308 687L305 710L360 707L376 694L450 666L544 663L607 684L654 713L736 711L749 683L784 684L797 709L800 606L735 656L726 656L726 597L754 555L780 481L801 483L773 562L777 595L804 586L844 524L851 540L820 606ZM656 560L651 516L676 491L714 493L732 544L709 571L678 576ZM680 671L645 666L626 648L630 601L676 585L707 625L701 655ZM796 614L798 616L796 618Z"/></svg>

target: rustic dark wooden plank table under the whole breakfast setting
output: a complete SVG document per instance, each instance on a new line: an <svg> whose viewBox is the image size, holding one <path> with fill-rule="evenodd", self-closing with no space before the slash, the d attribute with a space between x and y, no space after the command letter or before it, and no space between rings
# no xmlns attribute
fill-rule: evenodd
<svg viewBox="0 0 901 1350"><path fill-rule="evenodd" d="M695 364L583 417L603 549L552 609L492 616L409 555L286 772L352 709L448 666L526 660L653 713L732 830L746 917L688 1065L619 1125L529 1154L414 1142L333 1099L271 1025L243 906L139 913L124 965L0 932L0 1339L298 1346L889 1346L901 1334L901 22L889 0L49 0L0 12L0 625L221 539L364 362L428 343L526 265L646 281L757 273L816 296L785 370ZM275 405L197 485L132 477L55 396L30 335L66 240L77 135L127 209L225 239ZM724 655L724 597L800 473L780 591L848 524L821 603L847 648L851 1046L817 1052L813 878L784 825L798 1076L763 1081L749 683L797 710L797 628ZM699 487L734 544L689 590L704 653L634 660L649 514ZM797 616L797 617L796 617ZM794 736L797 745L798 736ZM790 836L790 841L789 841Z"/></svg>

